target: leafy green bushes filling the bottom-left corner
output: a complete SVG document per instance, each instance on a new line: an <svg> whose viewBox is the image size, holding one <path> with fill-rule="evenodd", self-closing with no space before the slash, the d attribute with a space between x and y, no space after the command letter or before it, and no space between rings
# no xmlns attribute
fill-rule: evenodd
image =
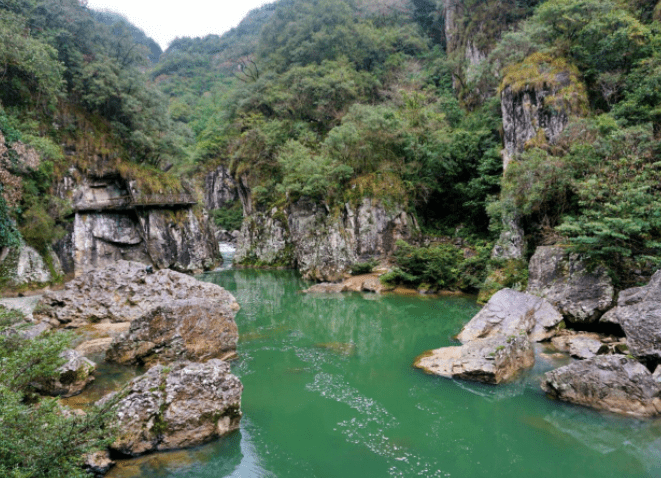
<svg viewBox="0 0 661 478"><path fill-rule="evenodd" d="M113 438L104 427L109 408L84 417L65 413L57 400L34 394L31 384L58 372L67 334L52 332L34 339L10 332L7 311L0 310L0 475L7 477L84 477L83 455ZM16 326L14 326L16 327Z"/></svg>

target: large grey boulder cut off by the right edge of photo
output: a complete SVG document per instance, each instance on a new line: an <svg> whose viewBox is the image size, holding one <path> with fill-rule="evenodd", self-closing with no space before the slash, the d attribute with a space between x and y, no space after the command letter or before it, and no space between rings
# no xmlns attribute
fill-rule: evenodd
<svg viewBox="0 0 661 478"><path fill-rule="evenodd" d="M661 362L661 270L646 286L620 292L617 307L600 322L622 328L634 357L651 364Z"/></svg>

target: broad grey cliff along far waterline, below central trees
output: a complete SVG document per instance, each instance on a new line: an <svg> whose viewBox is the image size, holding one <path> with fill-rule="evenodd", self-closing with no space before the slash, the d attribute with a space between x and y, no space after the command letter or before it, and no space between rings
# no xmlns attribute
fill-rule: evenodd
<svg viewBox="0 0 661 478"><path fill-rule="evenodd" d="M307 279L337 281L351 264L391 253L415 230L402 208L369 198L335 211L302 199L246 218L235 261L296 266Z"/></svg>

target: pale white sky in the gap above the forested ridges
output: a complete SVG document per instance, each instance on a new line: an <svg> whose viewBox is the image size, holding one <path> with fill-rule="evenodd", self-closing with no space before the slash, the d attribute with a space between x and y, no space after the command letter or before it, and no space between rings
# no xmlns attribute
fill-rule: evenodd
<svg viewBox="0 0 661 478"><path fill-rule="evenodd" d="M156 40L163 50L177 37L222 35L246 14L273 0L88 0L93 10L120 13ZM170 4L171 6L168 6Z"/></svg>

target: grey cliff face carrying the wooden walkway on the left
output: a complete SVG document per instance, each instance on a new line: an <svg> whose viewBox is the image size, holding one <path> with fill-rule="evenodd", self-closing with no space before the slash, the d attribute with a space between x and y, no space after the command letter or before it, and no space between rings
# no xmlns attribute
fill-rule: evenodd
<svg viewBox="0 0 661 478"><path fill-rule="evenodd" d="M134 192L116 178L60 184L58 193L72 198L75 211L69 234L55 247L66 273L121 259L192 273L213 267L219 253L206 216L177 198L136 206Z"/></svg>

